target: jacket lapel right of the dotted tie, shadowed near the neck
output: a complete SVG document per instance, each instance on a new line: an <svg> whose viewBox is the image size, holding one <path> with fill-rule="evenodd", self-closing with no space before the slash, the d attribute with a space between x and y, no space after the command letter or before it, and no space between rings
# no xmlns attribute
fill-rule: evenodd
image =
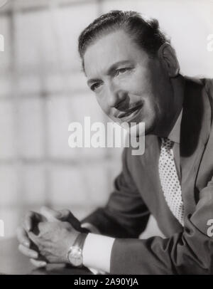
<svg viewBox="0 0 213 289"><path fill-rule="evenodd" d="M203 84L186 79L180 129L181 186L186 215L195 211L195 180L209 137L210 123L211 109Z"/></svg>

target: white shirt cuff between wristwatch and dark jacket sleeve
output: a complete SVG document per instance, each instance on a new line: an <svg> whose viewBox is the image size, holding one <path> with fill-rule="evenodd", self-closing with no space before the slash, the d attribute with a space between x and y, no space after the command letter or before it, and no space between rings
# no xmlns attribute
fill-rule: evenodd
<svg viewBox="0 0 213 289"><path fill-rule="evenodd" d="M111 237L89 233L82 252L84 266L109 273L114 240Z"/></svg>

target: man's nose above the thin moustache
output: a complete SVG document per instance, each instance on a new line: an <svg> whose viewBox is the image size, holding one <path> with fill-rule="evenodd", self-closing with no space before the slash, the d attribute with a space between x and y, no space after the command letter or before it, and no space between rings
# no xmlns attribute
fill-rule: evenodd
<svg viewBox="0 0 213 289"><path fill-rule="evenodd" d="M124 100L127 98L127 92L126 90L114 85L109 85L109 92L107 95L108 105L109 107L120 107L123 103L125 103Z"/></svg>

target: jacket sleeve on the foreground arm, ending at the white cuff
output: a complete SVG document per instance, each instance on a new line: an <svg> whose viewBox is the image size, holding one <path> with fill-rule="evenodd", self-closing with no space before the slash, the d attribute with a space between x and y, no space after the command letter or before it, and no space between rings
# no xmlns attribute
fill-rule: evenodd
<svg viewBox="0 0 213 289"><path fill-rule="evenodd" d="M195 213L185 220L182 233L165 239L117 238L111 251L110 273L212 274L212 224L213 178L200 192Z"/></svg>

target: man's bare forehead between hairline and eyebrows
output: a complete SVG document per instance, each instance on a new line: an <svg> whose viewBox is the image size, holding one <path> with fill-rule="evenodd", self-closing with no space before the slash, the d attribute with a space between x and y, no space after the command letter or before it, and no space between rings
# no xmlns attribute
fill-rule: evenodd
<svg viewBox="0 0 213 289"><path fill-rule="evenodd" d="M111 32L94 41L84 54L84 69L87 77L98 77L100 74L120 61L138 62L147 58L122 30Z"/></svg>

